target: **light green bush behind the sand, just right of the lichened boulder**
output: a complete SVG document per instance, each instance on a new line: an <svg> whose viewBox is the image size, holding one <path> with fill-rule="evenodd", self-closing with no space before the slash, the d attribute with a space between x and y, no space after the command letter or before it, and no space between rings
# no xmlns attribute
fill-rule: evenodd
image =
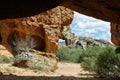
<svg viewBox="0 0 120 80"><path fill-rule="evenodd" d="M68 47L61 47L56 51L56 56L60 61L78 62L81 52L82 49L70 49Z"/></svg>

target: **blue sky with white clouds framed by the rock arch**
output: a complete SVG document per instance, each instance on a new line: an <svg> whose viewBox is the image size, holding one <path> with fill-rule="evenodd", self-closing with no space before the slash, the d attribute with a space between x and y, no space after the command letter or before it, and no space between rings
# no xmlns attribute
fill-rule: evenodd
<svg viewBox="0 0 120 80"><path fill-rule="evenodd" d="M96 39L110 41L110 23L75 12L71 23L72 32L76 36L91 36Z"/></svg>

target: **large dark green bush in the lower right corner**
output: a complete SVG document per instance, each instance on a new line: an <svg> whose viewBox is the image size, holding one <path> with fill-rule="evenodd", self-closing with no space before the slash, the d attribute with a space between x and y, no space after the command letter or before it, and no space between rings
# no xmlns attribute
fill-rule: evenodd
<svg viewBox="0 0 120 80"><path fill-rule="evenodd" d="M120 78L120 54L106 48L97 56L96 73L101 77Z"/></svg>

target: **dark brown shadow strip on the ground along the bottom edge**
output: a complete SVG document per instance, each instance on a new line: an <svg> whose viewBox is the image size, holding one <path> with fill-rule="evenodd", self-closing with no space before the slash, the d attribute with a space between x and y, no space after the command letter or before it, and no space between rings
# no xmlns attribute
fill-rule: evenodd
<svg viewBox="0 0 120 80"><path fill-rule="evenodd" d="M3 75L0 74L0 80L113 80L102 79L97 77L73 77L73 76L16 76L16 75Z"/></svg>

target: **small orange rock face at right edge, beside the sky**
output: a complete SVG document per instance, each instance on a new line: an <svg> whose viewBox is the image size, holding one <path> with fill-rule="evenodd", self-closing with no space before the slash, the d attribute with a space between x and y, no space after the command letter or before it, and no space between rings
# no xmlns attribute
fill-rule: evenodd
<svg viewBox="0 0 120 80"><path fill-rule="evenodd" d="M111 23L111 40L116 46L120 46L120 25Z"/></svg>

